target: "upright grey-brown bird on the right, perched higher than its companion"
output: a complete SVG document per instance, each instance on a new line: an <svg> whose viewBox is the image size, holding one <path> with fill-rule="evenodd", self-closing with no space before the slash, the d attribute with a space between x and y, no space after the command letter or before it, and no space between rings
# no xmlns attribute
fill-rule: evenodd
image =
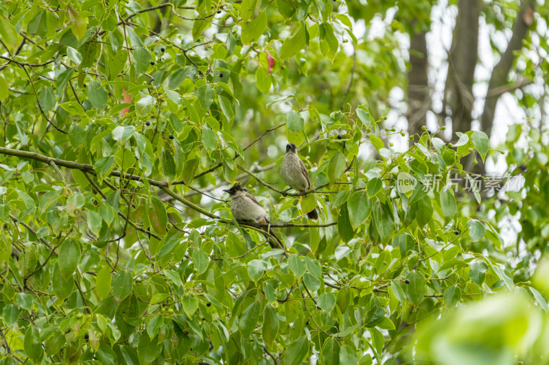
<svg viewBox="0 0 549 365"><path fill-rule="evenodd" d="M286 154L282 160L281 174L284 182L292 189L304 192L311 187L307 168L297 155L297 147L294 143L286 144ZM307 212L307 216L311 219L318 219L316 208Z"/></svg>

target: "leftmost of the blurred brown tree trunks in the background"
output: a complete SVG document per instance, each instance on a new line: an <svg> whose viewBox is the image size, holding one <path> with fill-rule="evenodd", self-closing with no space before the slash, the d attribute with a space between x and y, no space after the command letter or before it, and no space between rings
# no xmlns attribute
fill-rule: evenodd
<svg viewBox="0 0 549 365"><path fill-rule="evenodd" d="M410 36L410 71L408 71L408 134L421 134L421 127L427 121L427 111L431 108L428 75L427 32Z"/></svg>

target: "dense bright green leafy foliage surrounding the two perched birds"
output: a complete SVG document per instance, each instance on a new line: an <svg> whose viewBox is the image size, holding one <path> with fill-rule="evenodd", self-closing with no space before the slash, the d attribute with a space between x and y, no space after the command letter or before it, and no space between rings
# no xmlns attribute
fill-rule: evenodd
<svg viewBox="0 0 549 365"><path fill-rule="evenodd" d="M526 184L493 197L463 168L482 131L395 149L406 60L353 34L387 7L0 3L0 363L547 363L542 136L511 130ZM306 195L282 194L288 142ZM233 219L234 181L283 247ZM519 212L526 254L499 233Z"/></svg>

